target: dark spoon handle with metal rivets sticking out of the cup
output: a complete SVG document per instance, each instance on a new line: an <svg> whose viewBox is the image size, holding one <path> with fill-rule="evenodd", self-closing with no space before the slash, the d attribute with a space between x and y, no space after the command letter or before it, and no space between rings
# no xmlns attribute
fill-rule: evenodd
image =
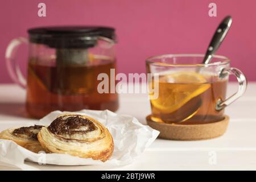
<svg viewBox="0 0 256 182"><path fill-rule="evenodd" d="M205 53L203 64L208 64L210 59L212 59L212 55L217 51L218 47L220 47L222 41L224 40L226 34L228 33L231 23L231 16L226 16L222 20L217 30L215 31L212 40L210 41L207 52Z"/></svg>

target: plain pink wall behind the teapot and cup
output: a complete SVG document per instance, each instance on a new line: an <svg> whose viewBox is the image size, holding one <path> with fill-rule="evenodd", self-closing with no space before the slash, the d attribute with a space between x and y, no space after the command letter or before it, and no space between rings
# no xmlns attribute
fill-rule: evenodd
<svg viewBox="0 0 256 182"><path fill-rule="evenodd" d="M38 3L47 6L39 18ZM217 4L217 17L209 17L208 5ZM230 57L248 80L256 81L255 0L1 0L0 83L12 82L6 71L5 49L27 28L49 25L104 25L117 29L118 72L145 71L148 56L166 53L204 53L218 23L233 16L232 28L218 54ZM24 50L24 51L23 51ZM26 52L22 48L20 52ZM19 56L26 72L26 55Z"/></svg>

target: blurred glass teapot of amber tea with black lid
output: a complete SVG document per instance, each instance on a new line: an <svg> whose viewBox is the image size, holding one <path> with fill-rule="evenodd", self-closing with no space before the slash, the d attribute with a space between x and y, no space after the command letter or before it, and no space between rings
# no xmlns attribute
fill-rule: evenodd
<svg viewBox="0 0 256 182"><path fill-rule="evenodd" d="M110 69L115 69L114 28L41 27L28 34L29 40L11 40L6 64L11 78L27 89L26 110L31 117L41 118L53 110L118 109L117 93L97 90L98 75L110 77ZM15 55L23 43L28 44L27 80Z"/></svg>

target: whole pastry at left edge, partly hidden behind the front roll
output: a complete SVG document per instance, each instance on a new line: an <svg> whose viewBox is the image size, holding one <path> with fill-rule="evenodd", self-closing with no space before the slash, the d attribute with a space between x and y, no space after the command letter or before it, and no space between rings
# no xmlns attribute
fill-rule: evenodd
<svg viewBox="0 0 256 182"><path fill-rule="evenodd" d="M32 152L44 151L38 142L37 135L43 126L35 125L4 130L0 133L0 139L13 140L19 146Z"/></svg>

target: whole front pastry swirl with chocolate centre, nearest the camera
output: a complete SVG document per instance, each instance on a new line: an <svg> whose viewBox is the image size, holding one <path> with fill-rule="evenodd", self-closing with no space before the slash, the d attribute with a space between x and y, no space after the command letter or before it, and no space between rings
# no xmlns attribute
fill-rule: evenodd
<svg viewBox="0 0 256 182"><path fill-rule="evenodd" d="M114 149L112 135L100 122L85 115L63 114L43 127L38 140L47 152L105 162Z"/></svg>

